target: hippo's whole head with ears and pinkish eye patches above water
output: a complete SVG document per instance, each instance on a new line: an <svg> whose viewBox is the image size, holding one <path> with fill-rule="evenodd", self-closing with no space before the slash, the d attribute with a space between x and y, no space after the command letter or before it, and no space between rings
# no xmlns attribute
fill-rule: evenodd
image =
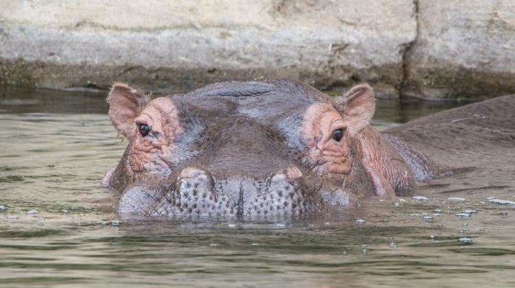
<svg viewBox="0 0 515 288"><path fill-rule="evenodd" d="M290 80L223 82L151 100L115 84L107 102L128 140L102 182L122 193L120 213L300 215L374 193L352 145L374 114L367 85L334 98Z"/></svg>

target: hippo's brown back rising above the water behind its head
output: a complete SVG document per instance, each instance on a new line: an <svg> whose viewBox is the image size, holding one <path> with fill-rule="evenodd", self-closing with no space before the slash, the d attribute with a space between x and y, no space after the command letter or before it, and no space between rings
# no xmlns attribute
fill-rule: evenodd
<svg viewBox="0 0 515 288"><path fill-rule="evenodd" d="M515 95L438 112L382 133L392 143L402 139L424 152L437 167L490 163L489 158L508 157L515 148Z"/></svg>

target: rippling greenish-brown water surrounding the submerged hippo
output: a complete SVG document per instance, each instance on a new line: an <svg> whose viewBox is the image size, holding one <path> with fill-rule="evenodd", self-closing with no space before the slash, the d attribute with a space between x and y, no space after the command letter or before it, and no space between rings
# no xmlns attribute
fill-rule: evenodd
<svg viewBox="0 0 515 288"><path fill-rule="evenodd" d="M1 287L515 285L514 180L443 193L464 173L295 220L124 218L100 187L126 146L103 93L1 91ZM455 105L381 100L374 125Z"/></svg>

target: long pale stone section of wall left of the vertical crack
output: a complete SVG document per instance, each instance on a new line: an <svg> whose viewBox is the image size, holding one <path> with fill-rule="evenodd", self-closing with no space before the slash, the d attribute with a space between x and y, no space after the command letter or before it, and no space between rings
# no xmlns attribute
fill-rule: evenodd
<svg viewBox="0 0 515 288"><path fill-rule="evenodd" d="M0 0L1 82L165 91L288 77L396 94L411 0Z"/></svg>

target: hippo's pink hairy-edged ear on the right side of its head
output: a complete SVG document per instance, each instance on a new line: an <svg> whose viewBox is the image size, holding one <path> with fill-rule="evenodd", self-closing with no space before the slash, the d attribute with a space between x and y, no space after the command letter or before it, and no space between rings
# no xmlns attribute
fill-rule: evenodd
<svg viewBox="0 0 515 288"><path fill-rule="evenodd" d="M356 136L369 125L374 116L376 99L374 99L374 92L368 84L360 84L352 87L350 91L337 99L334 106L340 112L343 121L347 123L347 129L351 136Z"/></svg>

